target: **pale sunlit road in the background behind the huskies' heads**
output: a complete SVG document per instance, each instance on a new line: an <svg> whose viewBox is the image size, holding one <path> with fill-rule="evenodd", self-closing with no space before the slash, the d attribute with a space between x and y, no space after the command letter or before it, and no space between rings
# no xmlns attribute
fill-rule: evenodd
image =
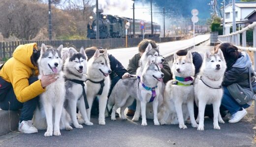
<svg viewBox="0 0 256 147"><path fill-rule="evenodd" d="M195 44L208 40L210 34L198 35L195 37ZM183 49L193 45L193 39L160 43L160 53L162 55L169 54L179 49ZM135 53L138 53L137 47L132 48L122 48L122 49L111 49L108 50L110 54L113 54L123 65L124 67L128 66L128 62Z"/></svg>

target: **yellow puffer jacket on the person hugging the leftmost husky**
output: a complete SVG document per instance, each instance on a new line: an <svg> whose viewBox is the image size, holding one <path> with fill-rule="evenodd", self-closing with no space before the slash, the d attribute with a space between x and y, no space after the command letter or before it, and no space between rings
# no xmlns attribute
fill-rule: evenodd
<svg viewBox="0 0 256 147"><path fill-rule="evenodd" d="M5 62L0 71L0 76L12 84L20 102L26 102L45 91L40 80L29 85L28 79L32 75L38 75L37 67L31 62L33 48L36 49L36 43L18 46L13 52L13 57Z"/></svg>

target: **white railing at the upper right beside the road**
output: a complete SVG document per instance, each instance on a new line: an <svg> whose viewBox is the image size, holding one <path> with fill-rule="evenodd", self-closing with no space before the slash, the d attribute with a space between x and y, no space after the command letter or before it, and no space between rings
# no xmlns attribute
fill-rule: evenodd
<svg viewBox="0 0 256 147"><path fill-rule="evenodd" d="M249 29L253 29L253 48L246 47L246 31ZM240 46L240 34L242 33L242 46ZM241 50L249 50L254 52L254 70L256 70L256 22L254 22L251 25L248 25L247 27L227 34L227 35L220 35L218 36L219 42L231 42L233 45L235 45L238 49ZM256 115L256 99L254 101L254 115Z"/></svg>

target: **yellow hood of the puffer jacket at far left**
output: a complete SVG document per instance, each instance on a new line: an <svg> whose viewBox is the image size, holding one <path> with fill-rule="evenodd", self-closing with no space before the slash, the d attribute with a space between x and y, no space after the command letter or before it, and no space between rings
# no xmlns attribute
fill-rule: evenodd
<svg viewBox="0 0 256 147"><path fill-rule="evenodd" d="M37 69L31 62L31 56L33 53L33 48L37 49L36 43L19 45L13 52L13 58L17 59L21 63L27 65L32 69Z"/></svg>

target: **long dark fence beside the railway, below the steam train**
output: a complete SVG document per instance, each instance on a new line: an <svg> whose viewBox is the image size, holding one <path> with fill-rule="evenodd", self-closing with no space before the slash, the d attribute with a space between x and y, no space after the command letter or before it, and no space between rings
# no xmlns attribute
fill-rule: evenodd
<svg viewBox="0 0 256 147"><path fill-rule="evenodd" d="M149 38L158 43L169 42L175 40L181 40L183 37L165 37L165 38ZM134 47L139 44L142 38L129 38L128 47ZM37 46L41 46L42 43L53 47L64 45L64 47L74 47L80 49L81 47L89 48L92 46L102 47L103 49L122 48L125 47L125 38L111 38L111 39L93 39L93 40L48 40L48 41L10 41L0 42L0 60L10 58L14 49L19 45L28 43L37 43Z"/></svg>

